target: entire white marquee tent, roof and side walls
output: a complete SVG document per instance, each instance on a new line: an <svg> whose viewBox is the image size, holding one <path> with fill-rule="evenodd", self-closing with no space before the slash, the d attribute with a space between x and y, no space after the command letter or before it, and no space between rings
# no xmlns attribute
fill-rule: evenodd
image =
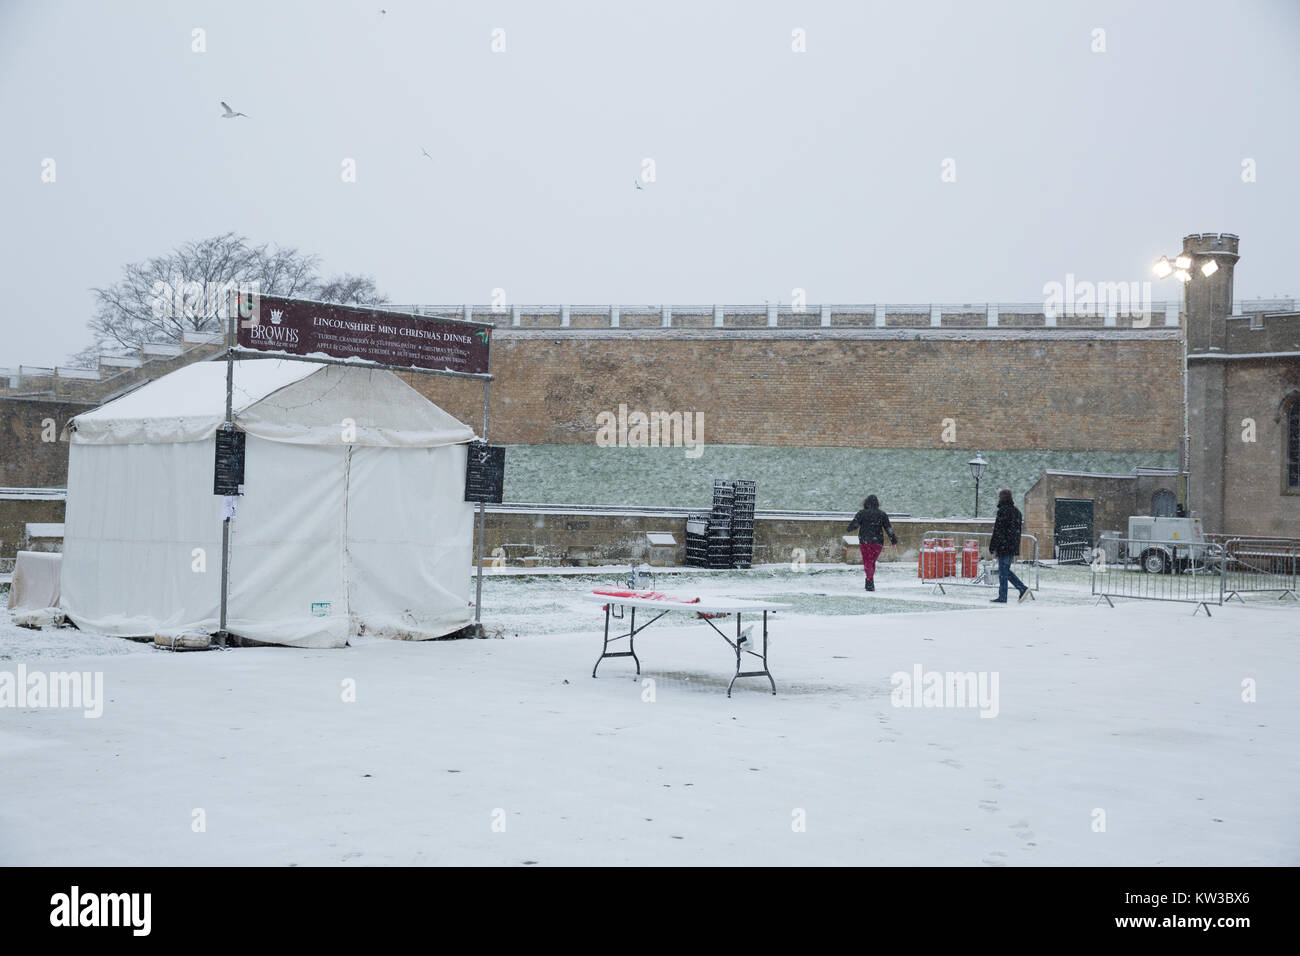
<svg viewBox="0 0 1300 956"><path fill-rule="evenodd" d="M60 606L78 627L217 630L225 376L196 363L70 423ZM321 648L471 623L473 429L384 369L242 360L234 385L228 631Z"/></svg>

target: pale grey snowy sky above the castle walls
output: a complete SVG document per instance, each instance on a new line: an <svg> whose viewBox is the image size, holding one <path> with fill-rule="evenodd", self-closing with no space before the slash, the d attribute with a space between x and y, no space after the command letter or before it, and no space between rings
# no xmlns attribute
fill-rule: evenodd
<svg viewBox="0 0 1300 956"><path fill-rule="evenodd" d="M0 365L225 230L394 302L1037 302L1221 230L1300 294L1297 90L1294 0L0 0Z"/></svg>

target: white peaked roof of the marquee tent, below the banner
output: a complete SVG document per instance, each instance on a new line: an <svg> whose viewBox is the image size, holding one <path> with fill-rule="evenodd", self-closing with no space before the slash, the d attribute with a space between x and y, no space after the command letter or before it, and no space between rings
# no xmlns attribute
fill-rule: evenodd
<svg viewBox="0 0 1300 956"><path fill-rule="evenodd" d="M473 429L381 368L246 359L234 363L233 416L244 432L298 445L437 447ZM77 444L205 441L226 416L226 363L198 362L78 415Z"/></svg>

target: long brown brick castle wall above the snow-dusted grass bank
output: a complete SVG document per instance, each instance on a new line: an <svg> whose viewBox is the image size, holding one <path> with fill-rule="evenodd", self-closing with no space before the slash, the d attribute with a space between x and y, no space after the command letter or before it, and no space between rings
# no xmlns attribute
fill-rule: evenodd
<svg viewBox="0 0 1300 956"><path fill-rule="evenodd" d="M625 316L627 317L627 316ZM493 441L592 444L620 403L702 411L705 441L741 445L1124 451L1176 447L1180 351L1173 336L1065 338L670 337L498 333ZM477 382L408 381L463 421Z"/></svg>

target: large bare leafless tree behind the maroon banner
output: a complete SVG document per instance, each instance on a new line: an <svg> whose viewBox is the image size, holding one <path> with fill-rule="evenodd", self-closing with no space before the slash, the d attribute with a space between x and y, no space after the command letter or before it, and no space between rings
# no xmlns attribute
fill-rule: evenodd
<svg viewBox="0 0 1300 956"><path fill-rule="evenodd" d="M387 302L369 276L343 273L326 281L317 274L318 267L316 255L269 243L254 246L235 233L130 263L117 282L92 290L95 312L87 325L94 342L70 360L94 365L104 350L177 341L186 332L217 332L229 290L240 286L341 304Z"/></svg>

